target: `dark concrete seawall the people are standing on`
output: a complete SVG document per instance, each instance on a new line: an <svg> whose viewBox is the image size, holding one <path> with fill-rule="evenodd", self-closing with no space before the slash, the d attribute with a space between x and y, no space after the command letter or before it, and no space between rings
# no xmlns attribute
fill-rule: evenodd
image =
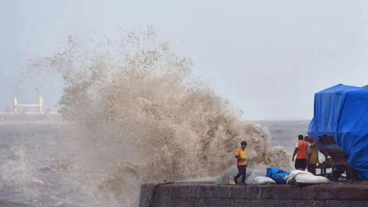
<svg viewBox="0 0 368 207"><path fill-rule="evenodd" d="M139 207L368 207L368 185L141 186Z"/></svg>

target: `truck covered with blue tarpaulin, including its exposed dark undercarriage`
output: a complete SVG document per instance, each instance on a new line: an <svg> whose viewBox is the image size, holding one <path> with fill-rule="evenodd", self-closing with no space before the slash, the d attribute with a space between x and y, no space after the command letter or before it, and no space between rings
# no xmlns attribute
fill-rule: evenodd
<svg viewBox="0 0 368 207"><path fill-rule="evenodd" d="M335 178L368 180L368 89L339 84L317 92L308 135L325 155L322 175L332 168Z"/></svg>

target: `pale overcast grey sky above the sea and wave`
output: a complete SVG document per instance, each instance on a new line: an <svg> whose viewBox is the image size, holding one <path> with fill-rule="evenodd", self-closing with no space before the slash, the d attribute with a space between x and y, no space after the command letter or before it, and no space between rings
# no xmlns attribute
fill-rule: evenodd
<svg viewBox="0 0 368 207"><path fill-rule="evenodd" d="M0 110L14 94L39 95L38 86L15 83L29 59L52 55L68 35L145 25L190 56L194 74L245 119L309 119L315 92L368 84L364 0L1 0L0 25Z"/></svg>

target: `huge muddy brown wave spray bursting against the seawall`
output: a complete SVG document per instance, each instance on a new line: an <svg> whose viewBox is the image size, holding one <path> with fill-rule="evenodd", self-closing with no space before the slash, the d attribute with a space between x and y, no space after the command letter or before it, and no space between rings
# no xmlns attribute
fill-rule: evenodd
<svg viewBox="0 0 368 207"><path fill-rule="evenodd" d="M191 59L155 34L148 28L88 44L69 38L65 51L32 64L65 83L64 178L104 206L130 207L143 182L217 179L235 165L243 140L249 168L289 168L286 152L269 147L268 129L191 80Z"/></svg>

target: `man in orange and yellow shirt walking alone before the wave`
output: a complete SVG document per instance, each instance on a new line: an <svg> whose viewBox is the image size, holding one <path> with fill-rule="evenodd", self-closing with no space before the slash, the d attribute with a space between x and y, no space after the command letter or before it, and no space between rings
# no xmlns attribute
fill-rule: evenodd
<svg viewBox="0 0 368 207"><path fill-rule="evenodd" d="M235 152L235 158L237 159L236 165L238 167L238 174L234 177L235 184L238 184L238 178L241 176L241 183L243 185L245 184L245 176L247 174L247 150L245 150L245 147L247 147L247 142L242 141L241 147L238 148Z"/></svg>

